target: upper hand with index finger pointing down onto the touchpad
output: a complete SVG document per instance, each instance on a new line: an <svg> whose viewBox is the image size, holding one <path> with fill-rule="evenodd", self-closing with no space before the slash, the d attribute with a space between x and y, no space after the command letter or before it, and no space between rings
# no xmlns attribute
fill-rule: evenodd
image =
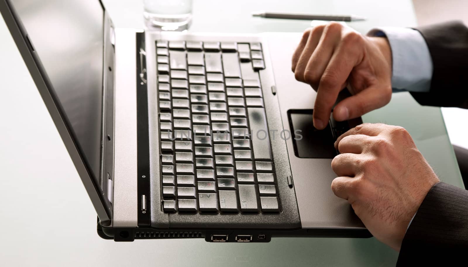
<svg viewBox="0 0 468 267"><path fill-rule="evenodd" d="M385 106L391 98L392 55L387 38L366 37L336 22L307 29L292 56L297 80L317 91L314 126L327 126L338 93L352 97L336 105L337 121Z"/></svg>

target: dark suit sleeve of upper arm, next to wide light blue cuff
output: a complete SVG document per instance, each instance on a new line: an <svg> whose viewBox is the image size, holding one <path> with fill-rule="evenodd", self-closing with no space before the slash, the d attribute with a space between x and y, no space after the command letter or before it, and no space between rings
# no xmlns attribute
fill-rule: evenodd
<svg viewBox="0 0 468 267"><path fill-rule="evenodd" d="M468 28L459 21L416 28L431 53L429 93L411 93L421 105L468 108Z"/></svg>

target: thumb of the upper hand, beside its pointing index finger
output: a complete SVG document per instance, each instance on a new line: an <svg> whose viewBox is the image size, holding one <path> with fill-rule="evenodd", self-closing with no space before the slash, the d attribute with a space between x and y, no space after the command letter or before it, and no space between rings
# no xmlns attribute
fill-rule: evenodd
<svg viewBox="0 0 468 267"><path fill-rule="evenodd" d="M333 117L337 121L357 118L377 108L381 108L390 102L392 88L382 88L375 85L340 101L334 111Z"/></svg>

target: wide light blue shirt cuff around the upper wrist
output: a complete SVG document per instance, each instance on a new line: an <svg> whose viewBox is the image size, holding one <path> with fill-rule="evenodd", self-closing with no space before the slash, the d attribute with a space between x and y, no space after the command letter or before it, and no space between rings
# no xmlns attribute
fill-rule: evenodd
<svg viewBox="0 0 468 267"><path fill-rule="evenodd" d="M429 92L432 59L424 37L417 30L381 27L371 29L367 35L386 36L390 43L394 91Z"/></svg>

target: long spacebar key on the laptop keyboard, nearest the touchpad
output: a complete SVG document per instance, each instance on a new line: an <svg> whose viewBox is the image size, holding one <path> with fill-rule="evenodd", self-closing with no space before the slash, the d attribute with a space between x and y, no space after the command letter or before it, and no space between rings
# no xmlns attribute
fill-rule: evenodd
<svg viewBox="0 0 468 267"><path fill-rule="evenodd" d="M247 108L255 160L272 160L264 108ZM263 140L262 140L263 139Z"/></svg>

